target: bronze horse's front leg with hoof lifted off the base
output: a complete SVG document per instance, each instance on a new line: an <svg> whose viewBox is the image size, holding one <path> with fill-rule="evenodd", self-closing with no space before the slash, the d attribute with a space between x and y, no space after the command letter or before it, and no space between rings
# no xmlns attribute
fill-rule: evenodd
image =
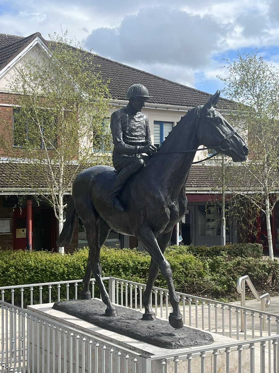
<svg viewBox="0 0 279 373"><path fill-rule="evenodd" d="M182 314L179 310L179 298L177 297L173 285L173 275L170 267L170 263L166 260L163 253L160 250L157 239L151 229L146 225L142 225L138 231L136 237L145 249L150 254L151 258L157 263L161 270L162 275L167 281L168 289L170 293L170 304L173 307L173 312L169 315L169 323L172 327L180 329L183 327ZM145 305L149 304L150 297L145 298ZM144 306L145 306L144 305Z"/></svg>

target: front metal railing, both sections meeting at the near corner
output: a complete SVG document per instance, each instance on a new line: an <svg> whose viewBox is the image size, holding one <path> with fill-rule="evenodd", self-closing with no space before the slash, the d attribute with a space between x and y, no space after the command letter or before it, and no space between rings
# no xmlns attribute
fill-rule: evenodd
<svg viewBox="0 0 279 373"><path fill-rule="evenodd" d="M278 373L279 334L142 355L51 317L0 301L2 372ZM127 345L127 342L125 341ZM142 346L140 347L143 348Z"/></svg>

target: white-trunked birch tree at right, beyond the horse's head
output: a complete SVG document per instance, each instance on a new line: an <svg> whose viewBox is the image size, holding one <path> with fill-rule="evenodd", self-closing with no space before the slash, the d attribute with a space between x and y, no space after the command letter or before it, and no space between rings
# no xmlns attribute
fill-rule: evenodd
<svg viewBox="0 0 279 373"><path fill-rule="evenodd" d="M219 78L225 83L225 96L236 101L230 121L242 124L250 150L243 164L247 184L234 178L233 189L265 216L269 257L273 260L270 217L279 201L279 70L265 62L257 50L238 53L233 62L226 62L228 76Z"/></svg>

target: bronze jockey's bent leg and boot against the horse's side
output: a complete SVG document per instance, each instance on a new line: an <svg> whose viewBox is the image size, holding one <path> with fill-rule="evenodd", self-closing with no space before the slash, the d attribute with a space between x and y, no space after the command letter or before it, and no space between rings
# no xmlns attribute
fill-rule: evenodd
<svg viewBox="0 0 279 373"><path fill-rule="evenodd" d="M129 164L127 167L125 167L123 170L119 172L108 197L108 201L106 204L108 207L114 207L115 209L118 209L120 211L125 211L124 206L122 205L119 199L119 192L126 184L128 179L131 176L133 176L138 170L140 170L143 166L144 160L137 158L135 162Z"/></svg>

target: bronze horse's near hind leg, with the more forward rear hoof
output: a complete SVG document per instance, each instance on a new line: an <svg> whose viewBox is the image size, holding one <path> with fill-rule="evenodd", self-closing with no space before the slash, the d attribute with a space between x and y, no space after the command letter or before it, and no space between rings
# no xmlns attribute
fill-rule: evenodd
<svg viewBox="0 0 279 373"><path fill-rule="evenodd" d="M108 292L102 279L102 267L100 264L100 248L108 237L110 227L100 217L97 219L96 225L92 223L86 224L86 237L89 244L88 263L99 286L102 301L106 304L106 316L116 316L116 308L109 299ZM89 270L88 270L89 272Z"/></svg>

